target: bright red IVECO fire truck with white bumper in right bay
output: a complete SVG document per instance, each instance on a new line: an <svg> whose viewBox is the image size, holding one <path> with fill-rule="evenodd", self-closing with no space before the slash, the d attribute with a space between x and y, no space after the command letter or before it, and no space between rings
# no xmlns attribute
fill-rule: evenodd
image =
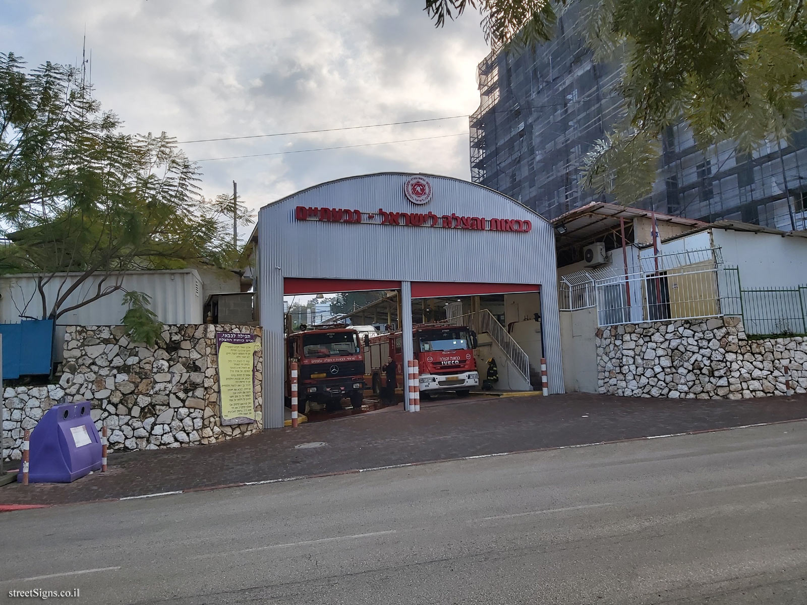
<svg viewBox="0 0 807 605"><path fill-rule="evenodd" d="M479 388L474 349L476 334L465 326L445 323L421 323L412 330L412 351L420 369L420 394L452 390L464 397ZM391 332L365 340L365 378L380 394L387 386L387 375L381 369L392 357L398 365L398 386L402 388L406 369L403 368L402 332Z"/></svg>

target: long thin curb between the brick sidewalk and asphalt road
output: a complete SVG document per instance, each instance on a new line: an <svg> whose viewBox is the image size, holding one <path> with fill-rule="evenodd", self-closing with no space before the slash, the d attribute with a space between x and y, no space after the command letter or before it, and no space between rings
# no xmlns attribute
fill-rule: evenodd
<svg viewBox="0 0 807 605"><path fill-rule="evenodd" d="M217 486L203 486L203 487L190 487L186 490L172 490L172 491L161 491L156 492L153 494L140 494L136 496L123 496L122 498L106 498L106 499L95 499L95 500L82 500L79 502L68 502L68 503L55 503L55 504L0 504L0 513L2 512L10 512L10 511L21 511L31 508L49 508L49 507L62 507L62 506L71 506L74 504L98 504L98 503L107 503L107 502L123 502L128 500L143 500L149 498L158 498L160 496L169 496L169 495L177 495L177 494L191 494L194 492L199 491L214 491L214 490L225 490L231 487L249 487L249 486L266 486L271 485L273 483L286 483L290 481L300 481L302 479L320 479L325 477L338 477L340 475L353 475L353 474L361 474L361 473L370 473L375 470L389 470L389 469L405 469L408 467L414 466L425 466L425 465L434 465L440 464L441 462L458 462L463 460L481 460L483 458L497 458L502 456L515 456L518 454L526 454L526 453L540 453L540 452L552 452L555 450L560 449L579 449L579 448L591 448L596 445L612 445L612 444L621 444L621 443L631 443L633 441L649 441L655 439L667 439L668 437L682 437L687 435L702 435L705 433L710 432L725 432L725 431L736 431L742 428L758 428L758 427L769 427L769 426L776 426L777 424L790 424L794 422L805 422L807 418L794 418L791 420L777 420L776 422L763 422L757 424L742 424L737 427L723 427L723 428L705 428L699 431L686 431L686 432L676 432L670 433L669 435L651 435L651 436L644 436L644 437L629 437L627 439L616 439L616 440L608 440L608 441L594 441L592 443L585 443L585 444L574 444L574 445L554 445L551 447L546 448L535 448L535 449L521 449L515 450L512 452L500 452L500 453L489 453L489 454L479 454L476 456L462 456L458 458L441 458L440 460L426 460L426 461L419 461L419 462L403 462L397 465L385 465L385 466L371 466L366 469L348 469L348 470L336 470L330 473L319 473L319 474L310 474L310 475L297 475L295 477L285 477L285 478L277 478L277 479L264 479L262 481L245 481L245 482L237 482L237 483L226 483L223 485Z"/></svg>

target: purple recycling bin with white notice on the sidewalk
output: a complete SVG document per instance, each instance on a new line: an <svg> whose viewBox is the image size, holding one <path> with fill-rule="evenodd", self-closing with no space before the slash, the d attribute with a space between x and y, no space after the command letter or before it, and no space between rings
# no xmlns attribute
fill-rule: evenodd
<svg viewBox="0 0 807 605"><path fill-rule="evenodd" d="M46 411L31 432L28 481L67 483L100 469L101 437L90 418L90 402L65 403Z"/></svg>

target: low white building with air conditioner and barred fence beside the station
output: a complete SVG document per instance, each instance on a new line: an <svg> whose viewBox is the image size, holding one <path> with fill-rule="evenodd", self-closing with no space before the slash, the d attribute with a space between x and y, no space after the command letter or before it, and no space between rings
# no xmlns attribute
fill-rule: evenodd
<svg viewBox="0 0 807 605"><path fill-rule="evenodd" d="M750 335L807 332L807 232L606 203L554 225L569 391L596 392L595 335L606 326L742 315Z"/></svg>

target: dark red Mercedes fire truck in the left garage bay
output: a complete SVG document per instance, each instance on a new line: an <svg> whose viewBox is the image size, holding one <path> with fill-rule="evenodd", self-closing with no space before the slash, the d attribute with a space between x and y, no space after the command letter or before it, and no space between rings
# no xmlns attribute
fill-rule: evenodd
<svg viewBox="0 0 807 605"><path fill-rule="evenodd" d="M306 413L308 403L328 411L341 410L349 398L353 409L364 398L364 355L358 332L344 324L316 326L286 336L286 403L291 405L291 362L298 371L298 407Z"/></svg>

